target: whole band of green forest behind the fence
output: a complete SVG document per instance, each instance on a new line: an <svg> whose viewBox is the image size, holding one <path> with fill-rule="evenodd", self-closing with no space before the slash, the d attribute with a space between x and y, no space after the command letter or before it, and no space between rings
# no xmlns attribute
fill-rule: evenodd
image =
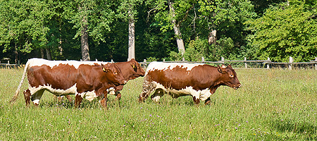
<svg viewBox="0 0 317 141"><path fill-rule="evenodd" d="M310 61L316 8L316 0L0 0L0 59Z"/></svg>

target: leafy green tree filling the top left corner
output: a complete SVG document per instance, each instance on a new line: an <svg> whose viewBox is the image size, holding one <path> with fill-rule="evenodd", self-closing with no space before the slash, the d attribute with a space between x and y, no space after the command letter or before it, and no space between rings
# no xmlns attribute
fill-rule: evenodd
<svg viewBox="0 0 317 141"><path fill-rule="evenodd" d="M30 53L33 49L46 47L46 26L52 15L49 5L44 1L0 1L0 44L4 52Z"/></svg>

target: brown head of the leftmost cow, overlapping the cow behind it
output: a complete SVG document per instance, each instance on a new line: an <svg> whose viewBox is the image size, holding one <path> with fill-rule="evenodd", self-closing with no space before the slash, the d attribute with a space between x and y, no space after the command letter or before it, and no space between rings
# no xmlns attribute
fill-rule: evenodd
<svg viewBox="0 0 317 141"><path fill-rule="evenodd" d="M114 85L125 85L127 82L121 73L121 70L114 63L107 63L106 65L101 63L102 71L104 71L106 80L108 83L113 83Z"/></svg>

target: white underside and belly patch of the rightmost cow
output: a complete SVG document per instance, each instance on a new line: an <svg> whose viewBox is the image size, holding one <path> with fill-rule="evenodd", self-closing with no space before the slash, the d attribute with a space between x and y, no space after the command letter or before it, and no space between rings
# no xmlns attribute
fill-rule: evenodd
<svg viewBox="0 0 317 141"><path fill-rule="evenodd" d="M208 97L211 96L211 92L209 88L206 88L205 90L194 90L192 86L186 87L185 89L182 90L175 90L175 89L166 89L163 85L161 85L159 82L154 82L154 85L156 85L156 89L162 89L166 91L170 96L172 97L182 97L185 95L192 95L192 97L199 97L202 101L208 99ZM154 97L155 98L155 97ZM156 100L156 99L155 99Z"/></svg>

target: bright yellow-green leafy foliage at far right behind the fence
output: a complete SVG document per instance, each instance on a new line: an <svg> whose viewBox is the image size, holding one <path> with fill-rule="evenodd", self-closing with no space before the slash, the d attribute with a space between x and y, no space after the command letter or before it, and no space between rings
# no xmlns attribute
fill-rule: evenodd
<svg viewBox="0 0 317 141"><path fill-rule="evenodd" d="M294 2L298 3L295 4ZM258 48L259 59L270 57L273 61L310 61L317 53L317 23L313 11L302 1L290 1L290 6L280 4L269 8L263 17L253 20L253 46Z"/></svg>

